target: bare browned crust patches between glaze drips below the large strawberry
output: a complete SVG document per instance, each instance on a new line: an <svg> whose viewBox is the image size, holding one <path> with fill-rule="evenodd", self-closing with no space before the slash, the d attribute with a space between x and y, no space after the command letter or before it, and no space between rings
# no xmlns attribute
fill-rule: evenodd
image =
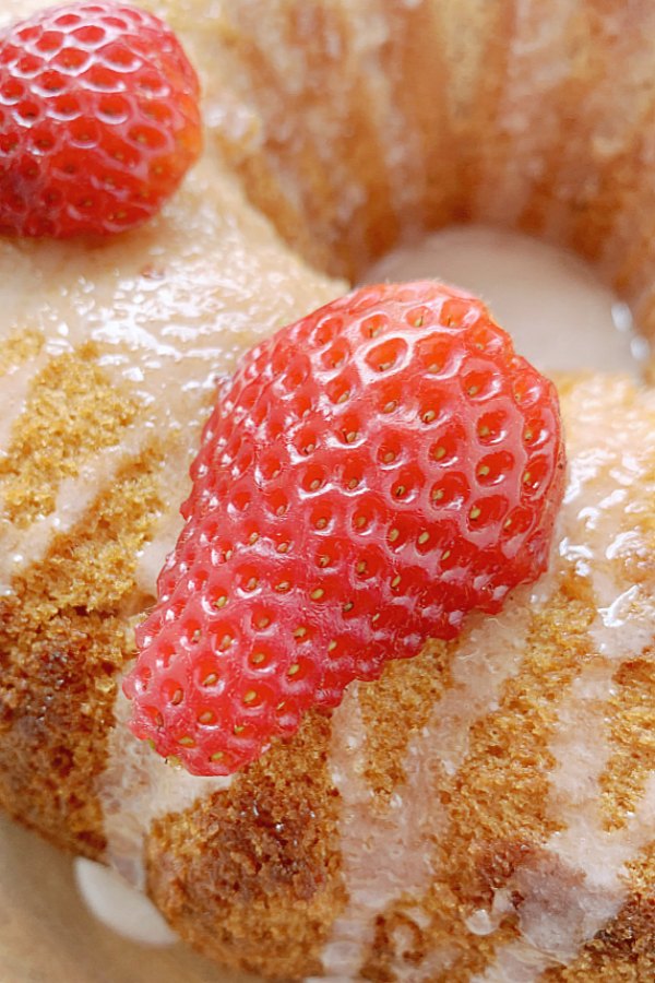
<svg viewBox="0 0 655 983"><path fill-rule="evenodd" d="M441 774L433 790L424 790L432 791L450 815L450 832L434 844L440 874L422 899L408 896L380 915L362 979L393 981L400 955L419 971L430 952L446 947L456 950L448 975L425 979L466 983L493 961L496 949L519 937L519 893L516 910L492 939L467 932L462 914L489 905L517 869L552 868L541 848L552 832L544 812L553 763L547 738L562 689L594 659L585 594L583 582L561 585L548 615L533 623L524 670L507 688L502 706L472 733L465 767L454 779ZM422 690L426 702L439 685L434 671L440 672L444 648L428 647L412 663L414 690ZM390 781L394 789L402 785L406 744L425 722L425 710L424 720L416 719L409 698L405 707L402 700L394 704L395 726L389 726L388 694L404 665L390 664L380 680L361 687L367 781L381 808ZM648 733L650 723L642 721L638 739ZM406 739L398 742L398 734ZM155 825L147 846L150 889L170 922L205 954L270 976L299 979L319 971L317 959L346 896L336 831L342 804L326 775L330 742L330 718L317 714L297 739L276 745L230 792ZM652 979L651 853L636 865L633 893L619 915L570 967L549 970L544 980L596 979L592 972L607 981ZM564 885L575 880L564 867L555 874Z"/></svg>

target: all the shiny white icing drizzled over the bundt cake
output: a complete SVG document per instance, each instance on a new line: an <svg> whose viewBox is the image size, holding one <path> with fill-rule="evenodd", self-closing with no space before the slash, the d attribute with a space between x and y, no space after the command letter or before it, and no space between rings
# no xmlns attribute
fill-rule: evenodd
<svg viewBox="0 0 655 983"><path fill-rule="evenodd" d="M479 8L477 0L466 3ZM0 11L0 24L41 5L44 0L8 0ZM406 0L404 4L407 9L420 5L420 0ZM440 4L434 14L446 33L449 24L454 23L448 16L449 5ZM87 505L112 481L121 460L136 452L144 435L156 430L169 448L162 475L166 504L156 534L139 557L136 576L140 591L152 595L156 572L179 530L177 510L188 489L188 464L217 379L231 371L239 353L258 337L342 289L310 273L281 246L267 223L245 203L218 161L215 129L221 127L235 140L245 140L251 150L257 150L264 137L261 120L235 95L238 85L235 93L216 97L219 72L212 71L214 28L228 20L227 5L215 2L206 9L203 4L202 31L194 28L200 9L194 0L171 0L158 7L168 10L172 25L187 33L205 79L209 133L201 164L157 222L119 242L97 248L0 244L0 275L3 283L12 285L3 295L0 339L26 328L44 339L41 354L12 367L0 382L0 454L11 440L31 387L38 386L47 360L75 350L84 341L95 343L98 364L140 407L138 424L120 445L109 453L80 462L78 474L61 483L52 512L37 517L25 529L0 525L0 590L5 593L12 590L15 570L41 558L52 536L73 529L83 519ZM248 8L239 5L245 17ZM512 155L499 155L498 166L491 161L489 168L483 168L475 214L503 222L519 220L533 182L548 166L545 147L549 141L557 143L556 119L544 120L541 116L540 100L535 98L535 71L537 90L544 95L567 79L570 66L564 70L558 61L558 50L567 37L569 8L558 0L544 20L538 4L520 5L512 38L513 70L499 109L503 127L515 138ZM405 233L417 232L421 215L416 202L428 175L417 153L417 134L396 106L389 82L383 55L392 35L391 14L374 0L367 0L357 9L345 4L343 14L358 39L355 54L367 67L365 96L372 108L373 128L390 173L391 212L402 220ZM616 16L619 29L620 14ZM305 59L297 50L286 49L282 33L279 44L275 44L276 29L282 32L283 25L276 26L275 19L262 22L261 39L271 58L277 58L276 68L286 91L297 93L305 85ZM338 43L334 35L331 44ZM456 50L457 45L461 33L450 37L450 49ZM462 57L465 70L453 81L448 96L451 131L462 107L471 105L485 73L485 49L476 44L475 35L463 46ZM640 72L646 72L646 58L650 52L643 46L631 61L638 80ZM651 72L650 63L647 71ZM612 102L615 122L594 135L599 155L627 145L638 111L624 94L615 98L608 85L602 96ZM597 97L594 93L590 96ZM345 91L343 98L347 98ZM307 117L306 126L314 138L323 137L327 132L325 122L318 107ZM345 188L337 206L347 220L366 200L366 188L331 151L330 140L322 140L321 145L325 166L334 169L340 186ZM580 180L580 162L573 152L562 161L561 169L564 183L573 187ZM281 180L285 182L284 174ZM293 197L295 189L289 189L288 178L285 187ZM568 204L562 196L561 208L549 212L549 234L559 230ZM620 225L621 216L615 221ZM353 236L357 236L356 229ZM620 235L614 242L608 239L604 259L610 270L620 265L622 241ZM432 250L432 245L429 248ZM523 245L520 251L527 248ZM515 259L516 252L512 262ZM416 253L409 259L410 275L419 272L415 261ZM390 271L391 267L383 269ZM434 269L434 273L441 275L441 270ZM253 284L258 289L253 291ZM644 296L648 288L644 285ZM561 292L567 294L568 289ZM599 296L595 287L592 293ZM608 309L611 304L611 298L604 295L602 306ZM622 309L623 319L624 315ZM609 341L610 335L615 340L618 336L612 334L610 319L598 313L576 313L569 323L559 316L555 320L562 331L568 357L572 355L574 336L570 325L576 329L581 321L588 320L594 356L597 352L610 353L602 367L616 368L620 358L621 365L633 368L629 345L623 345L618 356L619 348ZM603 329L603 344L597 333L602 320L607 329ZM537 358L546 331L550 347L550 324L535 331L539 343L535 350ZM590 344L585 351L590 352ZM587 354L584 364L597 365L588 360ZM557 367L569 368L571 363L567 360ZM599 774L609 754L604 712L614 672L622 661L641 652L652 635L654 616L652 594L632 579L623 562L624 555L639 555L644 548L640 517L634 510L629 512L627 505L646 501L651 504L646 507L652 508L653 501L652 488L645 487L645 462L652 453L653 435L642 427L638 410L626 423L624 413L621 415L624 386L620 381L592 379L586 388L577 390L577 403L570 407L571 477L561 535L553 571L535 588L532 601L535 608L547 604L552 578L568 567L588 577L596 596L597 618L592 638L597 659L562 694L551 742L555 766L548 802L563 831L548 842L547 852L581 874L582 879L564 897L547 869L519 869L516 884L525 899L520 912L522 937L499 947L495 961L478 980L526 983L537 979L548 966L570 960L580 943L618 911L624 895L624 864L654 832L652 781L634 816L621 829L603 829L597 809ZM645 393L642 399L652 404L652 394ZM454 685L434 708L426 732L412 743L406 782L395 791L388 812L377 812L374 817L370 812L371 793L361 774L366 735L356 687L336 711L332 770L343 801L342 853L349 900L324 952L325 970L333 978L343 980L357 972L376 916L404 890L420 895L434 874L427 845L446 819L438 808L429 807L426 784L429 785L432 768L450 774L457 772L466 759L475 722L495 707L503 685L520 670L526 632L525 603L525 597L517 595L515 606L510 605L499 618L469 627L454 659ZM585 722L582 741L576 726L579 714ZM182 809L196 796L207 794L207 789L218 786L187 780L133 742L128 750L126 738L124 703L119 699L111 758L99 792L106 810L109 858L133 883L143 885L141 846L152 819L168 809ZM372 854L388 861L376 867L371 883L367 880L366 861ZM491 935L510 909L508 892L499 891L489 909L466 913L464 922L474 935ZM573 915L562 916L564 909ZM417 910L416 919L420 916ZM402 966L397 971L401 979L425 979L426 974L446 971L454 958L454 951L446 947L433 952L429 963L413 976Z"/></svg>

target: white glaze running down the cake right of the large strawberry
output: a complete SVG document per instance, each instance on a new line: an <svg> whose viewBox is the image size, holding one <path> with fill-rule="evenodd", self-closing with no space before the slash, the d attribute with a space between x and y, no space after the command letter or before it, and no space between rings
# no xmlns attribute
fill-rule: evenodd
<svg viewBox="0 0 655 983"><path fill-rule="evenodd" d="M636 521L640 510L655 500L653 479L647 478L655 435L643 422L639 403L630 412L623 408L629 388L627 380L596 376L580 387L569 416L570 481L549 572L532 591L522 589L509 599L499 617L480 618L469 627L453 658L452 688L409 745L407 780L392 800L396 808L380 813L370 807L372 793L361 778L366 733L358 723L356 696L348 694L336 711L331 767L343 801L342 854L349 901L323 952L329 975L355 978L377 915L390 901L405 893L420 898L428 888L437 872L426 857L417 864L416 852L429 856L430 842L448 827L436 800L426 806L429 777L452 775L465 760L471 727L498 707L504 683L521 667L531 613L548 602L568 566L588 576L596 591L598 616L591 642L596 642L598 654L563 694L550 746L557 765L548 809L563 831L546 844L540 866L526 865L512 879L510 887L524 898L519 910L524 938L500 949L489 975L479 979L536 980L548 966L570 961L581 944L618 913L626 897L623 865L655 836L651 784L623 829L607 833L599 815L598 780L609 756L605 706L612 676L622 661L641 653L655 625L652 596L630 585L622 562L627 542L632 556L645 552ZM652 412L653 393L644 391L640 399ZM628 489L628 510L617 488ZM360 849L367 840L376 844L376 864ZM394 849L388 851L384 843ZM579 873L579 880L573 877L570 884L562 871ZM474 934L489 935L511 910L503 888L490 910L468 913L464 924ZM398 980L418 983L429 980L436 966L443 971L452 958L446 946L431 951L425 967L397 963L394 972Z"/></svg>

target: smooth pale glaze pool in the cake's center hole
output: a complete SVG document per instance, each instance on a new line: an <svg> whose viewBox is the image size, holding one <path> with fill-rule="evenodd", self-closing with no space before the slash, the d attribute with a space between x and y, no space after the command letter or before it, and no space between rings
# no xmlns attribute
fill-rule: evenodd
<svg viewBox="0 0 655 983"><path fill-rule="evenodd" d="M437 279L480 296L516 351L544 371L641 378L648 344L630 308L572 252L484 226L452 226L376 263L365 282Z"/></svg>

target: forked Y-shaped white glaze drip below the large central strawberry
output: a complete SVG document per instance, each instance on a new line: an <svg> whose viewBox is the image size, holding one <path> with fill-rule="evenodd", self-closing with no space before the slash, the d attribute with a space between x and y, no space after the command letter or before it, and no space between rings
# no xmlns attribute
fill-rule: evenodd
<svg viewBox="0 0 655 983"><path fill-rule="evenodd" d="M474 618L454 659L453 687L412 739L404 762L405 782L389 808L374 804L362 778L366 732L357 688L350 687L334 713L332 780L342 797L342 865L349 900L332 926L322 960L330 976L354 979L372 939L376 916L402 895L420 898L434 875L431 845L448 828L434 794L436 781L450 774L466 754L476 720L491 712L502 685L523 656L529 620L528 592L519 592L498 617ZM432 794L431 791L432 790ZM433 954L430 971L448 969L450 950ZM422 979L421 970L396 966L398 979ZM410 972L410 975L407 975Z"/></svg>

